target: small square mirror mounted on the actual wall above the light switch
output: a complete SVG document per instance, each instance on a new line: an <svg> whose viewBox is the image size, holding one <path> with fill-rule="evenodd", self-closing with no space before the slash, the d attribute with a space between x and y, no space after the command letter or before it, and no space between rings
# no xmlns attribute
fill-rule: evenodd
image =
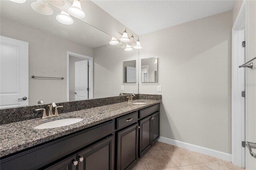
<svg viewBox="0 0 256 170"><path fill-rule="evenodd" d="M157 82L157 57L141 59L141 82Z"/></svg>

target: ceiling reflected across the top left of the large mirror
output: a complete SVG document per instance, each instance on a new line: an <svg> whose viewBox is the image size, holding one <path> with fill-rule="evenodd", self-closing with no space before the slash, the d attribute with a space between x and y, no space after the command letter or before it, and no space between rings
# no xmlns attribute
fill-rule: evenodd
<svg viewBox="0 0 256 170"><path fill-rule="evenodd" d="M111 39L108 34L75 17L72 17L73 24L61 24L56 20L56 15L60 14L61 10L52 5L49 5L54 11L52 15L39 14L31 8L32 2L35 1L15 3L1 0L0 16L92 48L106 45Z"/></svg>

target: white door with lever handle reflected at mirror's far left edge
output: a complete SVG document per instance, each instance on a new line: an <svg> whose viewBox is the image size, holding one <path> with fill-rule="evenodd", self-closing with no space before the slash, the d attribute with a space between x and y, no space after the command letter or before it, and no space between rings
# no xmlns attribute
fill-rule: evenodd
<svg viewBox="0 0 256 170"><path fill-rule="evenodd" d="M1 36L0 108L28 105L28 42Z"/></svg>

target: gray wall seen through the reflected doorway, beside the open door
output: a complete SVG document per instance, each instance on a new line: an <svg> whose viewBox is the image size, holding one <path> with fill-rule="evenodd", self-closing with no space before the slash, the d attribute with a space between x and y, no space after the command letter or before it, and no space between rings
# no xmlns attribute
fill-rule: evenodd
<svg viewBox="0 0 256 170"><path fill-rule="evenodd" d="M75 100L75 62L85 60L84 58L74 57L72 55L69 56L69 81L68 81L68 88L69 88L69 101Z"/></svg>

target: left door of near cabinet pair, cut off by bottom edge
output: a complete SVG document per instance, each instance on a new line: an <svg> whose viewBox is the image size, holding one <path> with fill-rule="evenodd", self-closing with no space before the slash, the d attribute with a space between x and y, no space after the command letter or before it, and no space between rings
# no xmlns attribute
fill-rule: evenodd
<svg viewBox="0 0 256 170"><path fill-rule="evenodd" d="M76 161L76 154L74 154L45 169L46 170L76 170L77 163L78 162Z"/></svg>

